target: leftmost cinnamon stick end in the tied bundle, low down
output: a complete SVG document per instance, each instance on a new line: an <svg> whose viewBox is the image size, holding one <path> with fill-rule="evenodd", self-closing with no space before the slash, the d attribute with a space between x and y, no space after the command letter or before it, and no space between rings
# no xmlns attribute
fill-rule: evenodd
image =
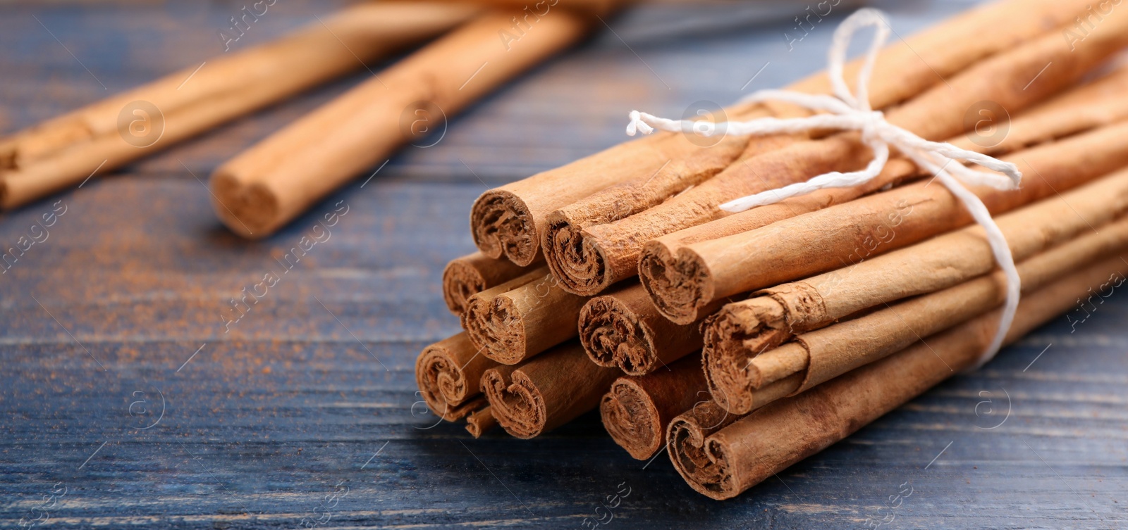
<svg viewBox="0 0 1128 530"><path fill-rule="evenodd" d="M482 375L497 362L479 353L466 333L435 342L415 360L415 383L428 408L447 421L482 408Z"/></svg>

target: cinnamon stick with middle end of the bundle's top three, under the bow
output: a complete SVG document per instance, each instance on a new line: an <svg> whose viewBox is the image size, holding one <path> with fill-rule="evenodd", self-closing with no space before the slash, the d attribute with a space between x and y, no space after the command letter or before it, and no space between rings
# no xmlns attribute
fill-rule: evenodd
<svg viewBox="0 0 1128 530"><path fill-rule="evenodd" d="M964 119L964 111L979 101L1022 109L1073 83L1128 45L1128 14L1105 17L1105 24L1098 28L1099 35L1098 30L1090 34L1093 41L1086 37L1084 50L1065 43L1059 32L1050 32L980 61L944 84L888 110L887 119L926 140L942 141L973 125ZM1055 65L1057 69L1049 72ZM1043 70L1048 77L1031 81L1031 71ZM888 82L873 82L882 81ZM799 142L732 164L716 177L629 217L581 231L562 228L566 233L555 242L552 234L546 235L546 244L554 245L546 250L546 260L566 290L594 295L637 272L638 254L646 241L729 215L716 207L722 203L831 171L861 169L872 153L858 138L857 133L844 133Z"/></svg>

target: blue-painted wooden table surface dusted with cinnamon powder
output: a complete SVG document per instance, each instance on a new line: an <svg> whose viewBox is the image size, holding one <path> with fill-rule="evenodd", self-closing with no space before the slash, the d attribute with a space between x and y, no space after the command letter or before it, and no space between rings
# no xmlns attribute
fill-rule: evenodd
<svg viewBox="0 0 1128 530"><path fill-rule="evenodd" d="M0 3L0 131L218 55L241 6ZM969 6L882 7L907 35ZM236 47L337 7L279 1ZM607 19L437 145L263 241L226 231L201 181L367 73L0 215L7 248L65 208L0 276L0 528L1128 524L1128 295L726 502L694 493L664 453L631 459L596 414L532 441L474 440L421 406L413 361L458 331L439 278L473 250L479 192L622 142L632 108L680 115L821 69L835 9L792 50L794 21L755 5ZM347 214L331 240L226 332L228 300L335 208ZM627 487L609 520L601 501Z"/></svg>

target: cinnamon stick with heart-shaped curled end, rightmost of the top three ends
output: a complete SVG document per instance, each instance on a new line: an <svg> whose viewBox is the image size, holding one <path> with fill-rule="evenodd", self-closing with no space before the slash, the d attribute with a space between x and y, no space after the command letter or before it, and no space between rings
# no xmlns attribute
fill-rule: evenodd
<svg viewBox="0 0 1128 530"><path fill-rule="evenodd" d="M1128 123L1069 136L1003 156L1025 174L1021 189L972 191L993 214L1008 212L1128 165L1126 147ZM715 299L848 267L971 221L944 187L917 182L680 245L673 255L654 252L662 261L642 268L642 284L663 315L693 322Z"/></svg>

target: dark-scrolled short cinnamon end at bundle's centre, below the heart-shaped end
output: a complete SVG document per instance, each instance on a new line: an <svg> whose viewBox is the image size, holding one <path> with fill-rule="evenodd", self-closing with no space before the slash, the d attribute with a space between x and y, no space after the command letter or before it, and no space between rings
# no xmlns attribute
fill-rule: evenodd
<svg viewBox="0 0 1128 530"><path fill-rule="evenodd" d="M715 308L720 308L719 302ZM588 358L643 376L700 350L699 323L675 324L651 304L638 284L588 300L580 311L580 343ZM663 370L664 371L664 370ZM679 411L680 412L680 411Z"/></svg>

